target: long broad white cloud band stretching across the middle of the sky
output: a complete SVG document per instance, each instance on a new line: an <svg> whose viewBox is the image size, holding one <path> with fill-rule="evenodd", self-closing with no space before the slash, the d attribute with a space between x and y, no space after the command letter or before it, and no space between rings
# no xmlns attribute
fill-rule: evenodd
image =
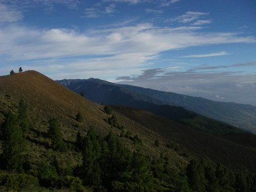
<svg viewBox="0 0 256 192"><path fill-rule="evenodd" d="M78 55L150 55L163 51L226 43L252 43L253 37L233 33L197 33L183 28L159 28L148 23L136 26L77 33L68 29L35 30L20 26L0 29L0 55L10 59L42 59ZM213 57L227 52L185 57ZM141 56L140 56L141 57Z"/></svg>

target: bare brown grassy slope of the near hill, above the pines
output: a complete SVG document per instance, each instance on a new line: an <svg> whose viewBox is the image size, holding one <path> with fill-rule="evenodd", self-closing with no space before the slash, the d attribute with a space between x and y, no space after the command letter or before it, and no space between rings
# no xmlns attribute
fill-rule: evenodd
<svg viewBox="0 0 256 192"><path fill-rule="evenodd" d="M35 126L37 127L36 129L40 129L40 124L47 124L49 118L58 117L62 124L63 138L67 141L75 141L76 139L78 128L74 125L77 123L75 116L78 110L82 112L84 118L79 127L82 134L89 129L90 125L94 126L98 134L101 135L106 135L111 129L111 126L104 120L109 117L102 111L104 106L81 97L81 95L70 91L37 71L30 70L11 76L0 76L0 115L1 113L7 113L9 109L17 110L12 108L11 105L13 103L17 105L21 98L30 106L33 123L39 124ZM156 157L159 156L161 151L164 151L174 164L177 163L182 166L187 164L187 159L178 155L174 150L165 146L159 148L154 146L156 138L162 143L165 142L159 134L131 121L125 116L116 115L118 122L125 126L125 131L129 130L132 135L139 135L143 142L143 150L147 155ZM44 126L44 130L40 131L47 131L47 127ZM118 135L120 134L120 131L116 128L113 131ZM36 140L37 138L34 139ZM130 139L123 138L122 140L125 146L134 149Z"/></svg>

